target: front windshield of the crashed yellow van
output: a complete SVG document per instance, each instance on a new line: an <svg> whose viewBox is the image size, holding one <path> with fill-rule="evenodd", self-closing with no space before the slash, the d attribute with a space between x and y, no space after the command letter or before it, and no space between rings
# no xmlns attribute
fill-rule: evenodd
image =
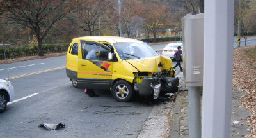
<svg viewBox="0 0 256 138"><path fill-rule="evenodd" d="M114 43L113 44L121 59L141 59L155 57L158 54L146 43Z"/></svg>

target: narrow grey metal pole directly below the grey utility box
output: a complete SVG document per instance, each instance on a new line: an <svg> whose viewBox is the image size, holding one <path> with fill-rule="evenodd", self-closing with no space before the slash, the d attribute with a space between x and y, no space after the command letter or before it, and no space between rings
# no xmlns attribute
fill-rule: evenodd
<svg viewBox="0 0 256 138"><path fill-rule="evenodd" d="M201 95L199 86L188 87L189 138L201 137Z"/></svg>

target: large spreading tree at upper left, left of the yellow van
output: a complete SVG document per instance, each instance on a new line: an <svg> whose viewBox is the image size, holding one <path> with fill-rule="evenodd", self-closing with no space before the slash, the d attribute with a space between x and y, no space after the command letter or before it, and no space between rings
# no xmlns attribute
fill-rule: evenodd
<svg viewBox="0 0 256 138"><path fill-rule="evenodd" d="M28 26L35 32L38 40L38 55L43 56L42 40L52 25L79 5L79 0L19 0L17 4L19 7L10 7L6 17L10 22Z"/></svg>

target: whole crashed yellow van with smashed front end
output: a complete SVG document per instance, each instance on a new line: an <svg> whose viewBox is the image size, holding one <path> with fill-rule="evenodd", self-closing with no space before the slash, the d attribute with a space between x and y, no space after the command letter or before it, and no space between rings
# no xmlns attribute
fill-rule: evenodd
<svg viewBox="0 0 256 138"><path fill-rule="evenodd" d="M115 36L74 38L67 51L66 73L74 87L111 90L119 102L134 95L157 99L177 92L170 57L158 55L147 43Z"/></svg>

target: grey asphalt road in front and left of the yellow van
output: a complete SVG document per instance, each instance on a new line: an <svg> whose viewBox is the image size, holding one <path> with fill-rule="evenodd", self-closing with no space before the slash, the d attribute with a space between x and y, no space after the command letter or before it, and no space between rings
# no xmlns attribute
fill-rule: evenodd
<svg viewBox="0 0 256 138"><path fill-rule="evenodd" d="M0 114L1 137L137 137L156 104L145 99L116 102L100 90L88 97L65 74L65 56L0 65L0 78L9 78L15 99ZM46 130L41 123L63 123Z"/></svg>

